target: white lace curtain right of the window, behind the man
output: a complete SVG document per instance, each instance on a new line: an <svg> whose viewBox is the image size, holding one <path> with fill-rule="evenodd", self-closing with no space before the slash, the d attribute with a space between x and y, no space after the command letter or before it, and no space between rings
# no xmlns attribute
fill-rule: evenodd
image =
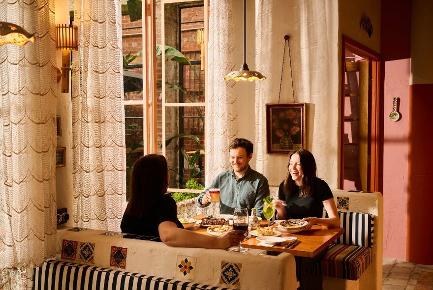
<svg viewBox="0 0 433 290"><path fill-rule="evenodd" d="M206 184L229 168L228 145L239 131L237 96L223 80L234 68L232 2L212 0L209 9Z"/></svg>

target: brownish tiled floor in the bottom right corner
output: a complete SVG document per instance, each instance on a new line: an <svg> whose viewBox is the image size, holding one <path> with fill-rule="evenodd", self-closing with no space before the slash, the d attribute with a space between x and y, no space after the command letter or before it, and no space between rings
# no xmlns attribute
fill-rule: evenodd
<svg viewBox="0 0 433 290"><path fill-rule="evenodd" d="M433 289L433 265L383 258L382 290Z"/></svg>

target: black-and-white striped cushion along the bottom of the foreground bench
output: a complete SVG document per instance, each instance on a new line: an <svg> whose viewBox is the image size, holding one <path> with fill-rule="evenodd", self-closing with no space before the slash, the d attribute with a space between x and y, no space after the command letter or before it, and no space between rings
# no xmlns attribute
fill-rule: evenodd
<svg viewBox="0 0 433 290"><path fill-rule="evenodd" d="M115 269L50 260L33 270L33 289L55 290L228 290Z"/></svg>

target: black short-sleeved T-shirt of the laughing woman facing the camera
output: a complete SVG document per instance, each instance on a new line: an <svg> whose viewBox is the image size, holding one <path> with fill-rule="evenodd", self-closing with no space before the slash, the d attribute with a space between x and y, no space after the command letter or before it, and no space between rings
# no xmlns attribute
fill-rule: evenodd
<svg viewBox="0 0 433 290"><path fill-rule="evenodd" d="M296 184L292 185L292 191L289 194L284 193L284 181L280 183L278 189L278 198L287 203L286 211L288 219L322 218L322 202L333 197L328 184L320 178L314 180L313 191L308 197L299 197L299 186Z"/></svg>

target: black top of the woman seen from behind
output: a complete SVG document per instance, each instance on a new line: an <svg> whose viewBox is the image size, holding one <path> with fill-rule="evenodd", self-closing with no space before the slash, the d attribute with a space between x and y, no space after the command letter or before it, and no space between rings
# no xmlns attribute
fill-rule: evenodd
<svg viewBox="0 0 433 290"><path fill-rule="evenodd" d="M125 212L120 228L122 232L159 236L158 226L162 222L173 222L178 228L184 228L178 220L176 202L169 195L160 196L156 200L155 206L151 207L150 211L140 218L130 216Z"/></svg>

